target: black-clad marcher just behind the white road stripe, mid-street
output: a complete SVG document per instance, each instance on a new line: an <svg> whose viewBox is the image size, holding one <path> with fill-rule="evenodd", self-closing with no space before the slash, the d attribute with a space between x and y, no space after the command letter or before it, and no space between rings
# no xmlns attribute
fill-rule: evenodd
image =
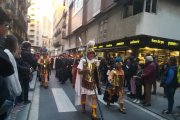
<svg viewBox="0 0 180 120"><path fill-rule="evenodd" d="M58 60L57 69L59 70L59 82L64 84L67 80L67 68L68 68L68 59L66 58L66 54L63 53L63 56L60 55L60 59Z"/></svg>

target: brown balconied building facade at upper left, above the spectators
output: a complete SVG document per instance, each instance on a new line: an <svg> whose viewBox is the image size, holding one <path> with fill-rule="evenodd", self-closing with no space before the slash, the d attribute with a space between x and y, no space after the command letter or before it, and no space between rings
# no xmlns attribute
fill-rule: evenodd
<svg viewBox="0 0 180 120"><path fill-rule="evenodd" d="M18 42L27 41L27 23L30 17L27 15L31 0L0 0L0 7L12 18L11 30L7 34L13 34Z"/></svg>

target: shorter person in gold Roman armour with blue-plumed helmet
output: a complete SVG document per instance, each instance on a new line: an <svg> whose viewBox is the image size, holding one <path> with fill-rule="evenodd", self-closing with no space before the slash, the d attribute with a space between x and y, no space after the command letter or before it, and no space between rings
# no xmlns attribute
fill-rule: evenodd
<svg viewBox="0 0 180 120"><path fill-rule="evenodd" d="M123 95L124 95L124 71L122 70L122 62L116 61L115 63L115 70L112 70L108 77L108 85L106 87L106 91L104 93L103 100L107 102L107 106L110 106L110 103L114 103L118 101L120 97L120 108L119 111L123 114L126 112L123 110Z"/></svg>

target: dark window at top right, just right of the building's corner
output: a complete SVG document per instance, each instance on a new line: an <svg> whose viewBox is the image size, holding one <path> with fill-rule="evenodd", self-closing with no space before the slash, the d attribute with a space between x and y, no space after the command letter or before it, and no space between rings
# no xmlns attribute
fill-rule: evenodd
<svg viewBox="0 0 180 120"><path fill-rule="evenodd" d="M146 12L157 13L157 0L146 0Z"/></svg>

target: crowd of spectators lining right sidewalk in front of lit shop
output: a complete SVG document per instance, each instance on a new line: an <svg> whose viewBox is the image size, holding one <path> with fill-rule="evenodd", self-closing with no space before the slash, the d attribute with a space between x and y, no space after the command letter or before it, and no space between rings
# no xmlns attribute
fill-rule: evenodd
<svg viewBox="0 0 180 120"><path fill-rule="evenodd" d="M124 72L124 87L127 87L125 92L130 98L135 98L134 103L143 104L144 107L151 106L151 95L156 95L156 82L160 78L160 87L164 88L164 97L168 99L168 109L163 110L163 114L172 114L172 108L174 104L174 94L179 86L177 74L178 66L177 59L175 57L169 57L167 63L164 63L161 70L159 71L159 65L155 61L155 57L151 56L149 53L144 56L145 64L140 63L138 57L134 57L133 53L125 56L124 61L118 54L112 55L112 58L107 54L107 58L100 57L99 72L100 80L102 83L106 84L106 91L109 92L108 86L112 78L112 71L117 71L116 63L122 62L121 69ZM110 72L111 71L111 72ZM160 77L159 77L160 76ZM143 86L143 87L142 87ZM144 88L144 90L143 90ZM153 89L153 91L152 91ZM143 93L144 91L144 93ZM114 96L113 96L114 95ZM118 94L119 95L119 94ZM104 100L107 102L107 106L115 101L108 101L108 96L113 96L117 98L115 93L104 94ZM178 106L179 108L179 106Z"/></svg>

